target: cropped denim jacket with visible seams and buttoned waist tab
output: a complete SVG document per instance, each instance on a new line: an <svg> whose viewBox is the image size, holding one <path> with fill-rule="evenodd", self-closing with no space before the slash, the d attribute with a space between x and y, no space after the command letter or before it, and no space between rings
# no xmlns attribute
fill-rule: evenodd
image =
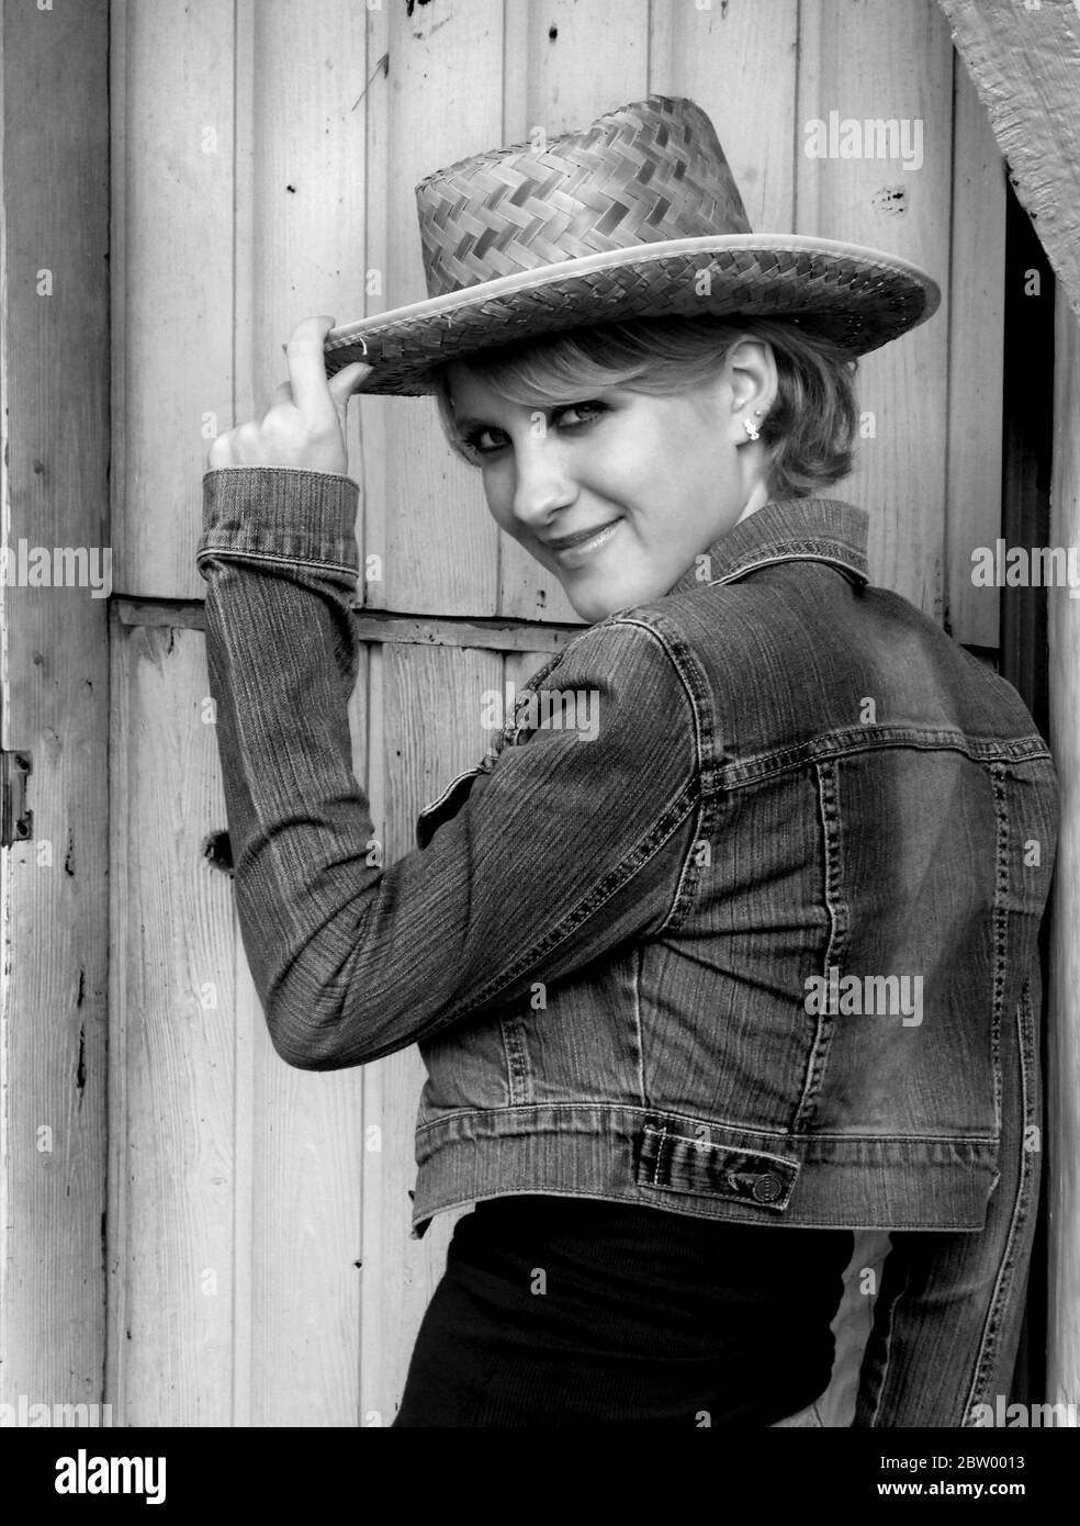
<svg viewBox="0 0 1080 1526"><path fill-rule="evenodd" d="M419 1045L413 1233L522 1192L981 1228L1056 777L1016 691L868 583L866 513L770 501L586 627L372 867L357 491L207 472L197 563L273 1044L311 1070Z"/></svg>

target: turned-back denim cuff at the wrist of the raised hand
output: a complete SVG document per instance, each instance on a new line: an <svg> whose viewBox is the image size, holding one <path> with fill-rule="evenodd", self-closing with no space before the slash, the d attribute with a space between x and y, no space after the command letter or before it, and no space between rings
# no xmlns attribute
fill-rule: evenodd
<svg viewBox="0 0 1080 1526"><path fill-rule="evenodd" d="M195 562L218 552L358 571L360 487L307 467L217 467L203 476Z"/></svg>

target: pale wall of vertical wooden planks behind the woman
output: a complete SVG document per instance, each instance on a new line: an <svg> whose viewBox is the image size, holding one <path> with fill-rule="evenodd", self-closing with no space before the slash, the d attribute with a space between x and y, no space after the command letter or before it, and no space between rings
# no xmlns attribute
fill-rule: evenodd
<svg viewBox="0 0 1080 1526"><path fill-rule="evenodd" d="M302 316L426 295L421 175L650 90L712 116L754 227L880 246L940 279L941 314L863 363L874 435L842 496L871 510L876 580L993 650L970 549L1001 510L1004 172L934 0L113 0L117 1421L389 1424L453 1218L409 1238L415 1051L282 1065L204 855L226 826L194 563L209 439L265 406ZM807 159L804 124L833 108L920 119L923 166ZM481 691L523 679L577 620L499 543L430 401L354 401L351 430L380 574L355 771L395 858L487 748Z"/></svg>

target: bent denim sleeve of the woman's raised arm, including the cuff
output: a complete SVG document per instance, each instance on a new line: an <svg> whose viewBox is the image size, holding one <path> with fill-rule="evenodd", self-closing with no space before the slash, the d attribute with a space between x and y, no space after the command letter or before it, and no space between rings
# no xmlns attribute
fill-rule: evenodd
<svg viewBox="0 0 1080 1526"><path fill-rule="evenodd" d="M358 488L276 467L218 468L203 487L236 911L285 1061L366 1064L665 926L699 768L694 705L654 630L589 627L546 679L595 725L542 725L503 748L427 847L371 867L346 708Z"/></svg>

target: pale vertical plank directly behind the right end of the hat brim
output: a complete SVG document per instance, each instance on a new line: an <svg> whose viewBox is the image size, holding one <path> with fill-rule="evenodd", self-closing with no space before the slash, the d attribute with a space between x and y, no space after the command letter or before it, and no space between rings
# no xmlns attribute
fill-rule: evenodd
<svg viewBox="0 0 1080 1526"><path fill-rule="evenodd" d="M921 165L898 157L805 154L807 124L921 124ZM796 232L885 249L926 269L943 308L924 327L865 356L859 403L874 438L857 441L841 496L869 511L876 583L938 621L944 613L944 493L949 342L952 47L935 0L804 3L796 113ZM911 139L912 146L915 139ZM914 162L914 160L912 160Z"/></svg>

